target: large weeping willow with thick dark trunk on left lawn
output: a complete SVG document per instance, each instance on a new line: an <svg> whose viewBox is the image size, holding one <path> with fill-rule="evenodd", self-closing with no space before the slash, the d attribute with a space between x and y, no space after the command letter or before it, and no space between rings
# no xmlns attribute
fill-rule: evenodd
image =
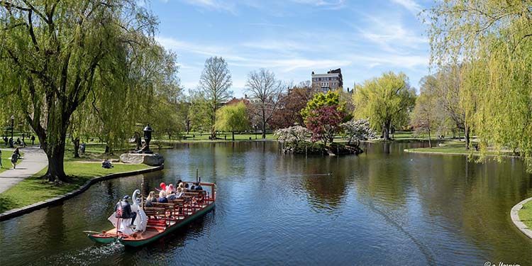
<svg viewBox="0 0 532 266"><path fill-rule="evenodd" d="M48 180L63 167L70 117L92 92L113 92L135 57L138 35L155 19L135 0L0 1L1 90L19 109L48 157ZM105 86L104 79L113 79ZM9 99L7 99L9 101ZM5 101L5 99L4 99Z"/></svg>

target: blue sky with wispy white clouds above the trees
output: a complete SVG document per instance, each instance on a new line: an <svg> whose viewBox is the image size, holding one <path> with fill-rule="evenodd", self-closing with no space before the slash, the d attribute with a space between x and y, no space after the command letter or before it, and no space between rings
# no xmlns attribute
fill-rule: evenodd
<svg viewBox="0 0 532 266"><path fill-rule="evenodd" d="M197 87L206 58L221 56L243 96L248 73L270 69L297 84L341 67L344 88L382 72L404 72L412 86L428 74L430 0L153 0L157 40L177 54L186 90Z"/></svg>

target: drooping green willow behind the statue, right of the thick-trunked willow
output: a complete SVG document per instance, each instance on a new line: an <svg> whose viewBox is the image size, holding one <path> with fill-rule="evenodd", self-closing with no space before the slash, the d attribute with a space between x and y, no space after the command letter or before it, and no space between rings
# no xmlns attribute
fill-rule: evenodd
<svg viewBox="0 0 532 266"><path fill-rule="evenodd" d="M181 88L175 56L152 38L137 38L148 45L135 51L127 72L98 80L102 86L115 89L98 90L84 104L89 112L82 117L92 120L92 133L106 143L108 153L121 148L146 123L154 128L155 136L178 134L182 128L177 112Z"/></svg>

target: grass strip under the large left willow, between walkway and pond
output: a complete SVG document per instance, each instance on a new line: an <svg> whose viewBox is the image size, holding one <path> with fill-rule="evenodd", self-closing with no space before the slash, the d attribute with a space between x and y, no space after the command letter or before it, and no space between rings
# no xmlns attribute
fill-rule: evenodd
<svg viewBox="0 0 532 266"><path fill-rule="evenodd" d="M148 165L125 165L120 163L113 163L113 165L114 167L111 169L104 169L101 167L101 162L65 160L65 172L72 180L70 183L60 186L55 186L40 179L46 172L46 169L43 169L33 175L33 177L24 179L0 194L0 213L66 194L81 187L87 180L94 177L150 168Z"/></svg>

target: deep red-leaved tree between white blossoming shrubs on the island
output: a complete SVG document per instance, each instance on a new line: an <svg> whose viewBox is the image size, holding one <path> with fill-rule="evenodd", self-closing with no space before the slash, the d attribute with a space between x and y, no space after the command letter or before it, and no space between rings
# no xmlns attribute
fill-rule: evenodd
<svg viewBox="0 0 532 266"><path fill-rule="evenodd" d="M322 140L324 145L332 143L334 136L340 131L345 113L338 105L324 105L314 109L306 118L306 128L312 131L313 140Z"/></svg>

